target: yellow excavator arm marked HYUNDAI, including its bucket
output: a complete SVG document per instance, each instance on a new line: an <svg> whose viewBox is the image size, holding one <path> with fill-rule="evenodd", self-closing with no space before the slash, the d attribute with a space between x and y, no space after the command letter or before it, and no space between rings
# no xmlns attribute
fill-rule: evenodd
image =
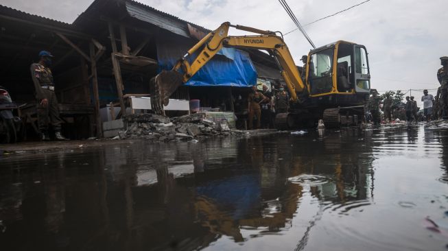
<svg viewBox="0 0 448 251"><path fill-rule="evenodd" d="M228 36L230 27L259 35ZM290 50L281 37L276 36L275 32L241 25L231 25L226 22L207 34L207 36L204 36L202 40L189 49L187 54L178 60L171 71L163 71L152 78L150 91L152 93L151 102L154 112L162 113L163 105L166 106L168 104L169 96L207 64L222 47L263 49L268 51L279 65L281 75L286 82L292 100L297 101L297 93L305 91L305 84L303 84L300 78ZM196 57L191 58L193 56Z"/></svg>

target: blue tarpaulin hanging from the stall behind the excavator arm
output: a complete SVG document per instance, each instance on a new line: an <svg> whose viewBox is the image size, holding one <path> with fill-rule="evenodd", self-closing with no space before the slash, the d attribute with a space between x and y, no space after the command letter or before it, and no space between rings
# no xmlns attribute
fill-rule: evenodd
<svg viewBox="0 0 448 251"><path fill-rule="evenodd" d="M170 34L159 36L157 59L159 70L171 70L176 61L197 43L195 40ZM192 59L194 56L190 56ZM257 71L246 51L223 48L190 80L187 86L253 86Z"/></svg>

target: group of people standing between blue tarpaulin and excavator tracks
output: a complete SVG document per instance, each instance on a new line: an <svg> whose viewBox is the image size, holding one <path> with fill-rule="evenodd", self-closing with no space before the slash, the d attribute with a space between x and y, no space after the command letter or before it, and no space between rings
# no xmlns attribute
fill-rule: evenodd
<svg viewBox="0 0 448 251"><path fill-rule="evenodd" d="M290 97L283 86L280 86L276 95L268 91L268 86L263 85L263 91L257 86L252 86L252 92L248 95L248 129L274 128L274 119L277 113L287 112ZM254 118L257 124L254 126Z"/></svg>

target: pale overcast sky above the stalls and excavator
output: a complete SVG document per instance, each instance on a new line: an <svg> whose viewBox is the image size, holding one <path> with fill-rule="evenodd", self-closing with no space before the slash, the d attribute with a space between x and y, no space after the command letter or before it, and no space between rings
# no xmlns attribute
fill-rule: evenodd
<svg viewBox="0 0 448 251"><path fill-rule="evenodd" d="M72 23L93 0L0 0L1 5ZM139 0L191 23L215 29L224 21L283 33L294 29L277 0ZM287 1L303 25L364 0ZM445 26L443 26L445 23ZM319 47L336 40L365 45L372 88L437 88L440 56L448 56L447 0L370 0L305 27ZM241 34L231 31L230 34ZM296 31L285 36L296 64L311 46ZM432 93L432 91L430 91ZM414 91L412 92L414 95ZM421 91L416 93L420 97ZM419 98L418 98L419 99Z"/></svg>

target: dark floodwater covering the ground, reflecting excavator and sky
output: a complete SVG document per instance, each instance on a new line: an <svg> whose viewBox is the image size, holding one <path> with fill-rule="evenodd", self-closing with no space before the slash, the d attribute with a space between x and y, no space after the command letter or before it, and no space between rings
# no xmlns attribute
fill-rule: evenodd
<svg viewBox="0 0 448 251"><path fill-rule="evenodd" d="M448 123L0 159L1 250L447 250Z"/></svg>

